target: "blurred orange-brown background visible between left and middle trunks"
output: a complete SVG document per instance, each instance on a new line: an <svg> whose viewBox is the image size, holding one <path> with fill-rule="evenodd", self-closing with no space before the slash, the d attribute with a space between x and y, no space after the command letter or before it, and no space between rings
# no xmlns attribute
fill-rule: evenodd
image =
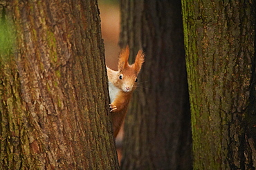
<svg viewBox="0 0 256 170"><path fill-rule="evenodd" d="M118 69L118 45L120 33L120 6L118 0L99 0L102 39L104 39L106 64L113 70ZM123 126L116 138L118 160L122 158Z"/></svg>

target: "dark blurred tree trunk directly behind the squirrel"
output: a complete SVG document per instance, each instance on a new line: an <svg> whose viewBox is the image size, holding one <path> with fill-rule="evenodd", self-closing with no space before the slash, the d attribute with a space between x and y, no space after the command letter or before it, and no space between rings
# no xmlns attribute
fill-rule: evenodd
<svg viewBox="0 0 256 170"><path fill-rule="evenodd" d="M180 1L121 1L120 45L145 51L125 120L122 169L191 169ZM185 163L184 163L185 162Z"/></svg>

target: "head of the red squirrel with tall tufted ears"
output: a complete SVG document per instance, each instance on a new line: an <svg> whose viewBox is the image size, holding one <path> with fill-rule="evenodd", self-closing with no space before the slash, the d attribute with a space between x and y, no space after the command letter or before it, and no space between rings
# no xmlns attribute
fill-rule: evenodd
<svg viewBox="0 0 256 170"><path fill-rule="evenodd" d="M116 85L122 89L123 92L132 92L136 89L136 82L138 81L137 76L143 65L144 56L143 51L139 50L134 64L129 65L129 47L127 46L120 52Z"/></svg>

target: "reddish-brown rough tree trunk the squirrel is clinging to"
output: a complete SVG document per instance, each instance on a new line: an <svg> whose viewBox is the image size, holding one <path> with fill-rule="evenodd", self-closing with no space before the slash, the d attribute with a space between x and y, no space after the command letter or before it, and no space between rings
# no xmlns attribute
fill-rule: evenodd
<svg viewBox="0 0 256 170"><path fill-rule="evenodd" d="M118 169L97 2L0 3L0 167Z"/></svg>

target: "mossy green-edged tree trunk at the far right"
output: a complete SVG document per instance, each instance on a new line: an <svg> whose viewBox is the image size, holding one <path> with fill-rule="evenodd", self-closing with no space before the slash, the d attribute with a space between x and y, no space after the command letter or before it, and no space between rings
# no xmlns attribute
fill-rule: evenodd
<svg viewBox="0 0 256 170"><path fill-rule="evenodd" d="M255 169L255 1L184 1L194 169Z"/></svg>

